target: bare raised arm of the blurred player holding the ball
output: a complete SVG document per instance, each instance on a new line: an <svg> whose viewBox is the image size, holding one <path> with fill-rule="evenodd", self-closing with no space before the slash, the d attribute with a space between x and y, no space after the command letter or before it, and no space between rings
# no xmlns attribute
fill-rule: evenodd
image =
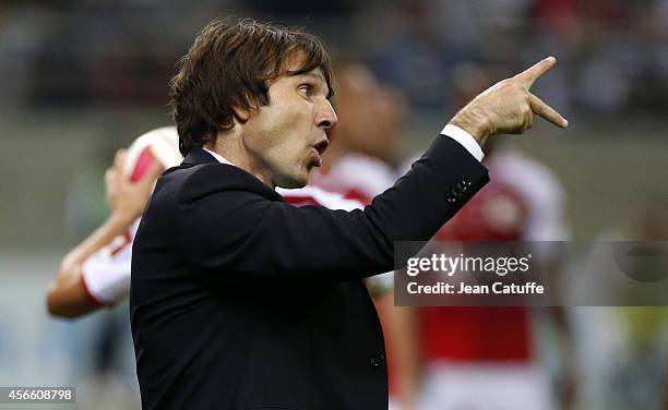
<svg viewBox="0 0 668 410"><path fill-rule="evenodd" d="M63 317L76 317L104 306L108 302L93 297L86 287L83 269L87 261L103 260L105 248L115 239L126 236L131 225L141 216L157 176L163 170L158 164L153 164L146 176L132 183L123 174L124 150L119 150L114 166L105 173L107 201L111 213L105 222L88 236L82 243L72 249L61 261L56 280L49 286L47 308L50 314ZM122 244L129 246L131 243ZM119 248L120 250L120 248ZM129 261L129 260L128 260ZM100 268L99 262L91 263L90 275L105 275L109 270ZM110 265L111 266L111 265ZM117 275L130 276L129 264L115 264ZM119 272L119 269L121 272Z"/></svg>

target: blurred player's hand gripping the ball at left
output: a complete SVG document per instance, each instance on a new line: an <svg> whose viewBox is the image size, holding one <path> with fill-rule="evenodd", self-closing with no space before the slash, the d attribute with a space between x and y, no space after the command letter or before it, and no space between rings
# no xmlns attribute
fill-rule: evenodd
<svg viewBox="0 0 668 410"><path fill-rule="evenodd" d="M126 157L126 149L116 153L114 165L105 172L105 189L111 214L132 221L144 212L153 184L163 171L163 167L154 161L141 180L132 182L123 172Z"/></svg>

